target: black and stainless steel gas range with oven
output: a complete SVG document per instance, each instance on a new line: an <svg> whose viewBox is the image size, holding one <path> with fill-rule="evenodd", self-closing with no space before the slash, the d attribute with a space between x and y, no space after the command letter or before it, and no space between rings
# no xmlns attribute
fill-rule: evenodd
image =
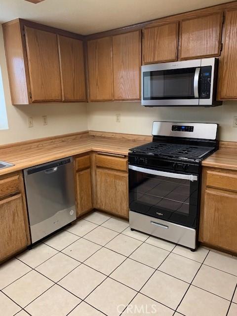
<svg viewBox="0 0 237 316"><path fill-rule="evenodd" d="M218 149L217 124L153 123L153 141L130 149L129 224L195 250L201 161Z"/></svg>

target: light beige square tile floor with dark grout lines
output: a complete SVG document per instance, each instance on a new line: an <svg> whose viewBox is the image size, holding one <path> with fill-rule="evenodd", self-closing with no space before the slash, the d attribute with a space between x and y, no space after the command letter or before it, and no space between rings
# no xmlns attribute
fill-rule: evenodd
<svg viewBox="0 0 237 316"><path fill-rule="evenodd" d="M237 257L94 212L0 266L1 316L237 316Z"/></svg>

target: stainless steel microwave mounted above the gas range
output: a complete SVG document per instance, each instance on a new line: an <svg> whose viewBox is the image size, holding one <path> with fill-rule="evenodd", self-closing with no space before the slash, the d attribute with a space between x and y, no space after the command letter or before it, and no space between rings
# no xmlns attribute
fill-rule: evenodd
<svg viewBox="0 0 237 316"><path fill-rule="evenodd" d="M217 58L142 66L142 105L217 106Z"/></svg>

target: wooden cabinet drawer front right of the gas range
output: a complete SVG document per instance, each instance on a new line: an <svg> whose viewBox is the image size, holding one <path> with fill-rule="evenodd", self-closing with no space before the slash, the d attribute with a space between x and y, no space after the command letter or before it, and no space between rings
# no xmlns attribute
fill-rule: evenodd
<svg viewBox="0 0 237 316"><path fill-rule="evenodd" d="M237 172L207 171L206 186L237 192Z"/></svg>

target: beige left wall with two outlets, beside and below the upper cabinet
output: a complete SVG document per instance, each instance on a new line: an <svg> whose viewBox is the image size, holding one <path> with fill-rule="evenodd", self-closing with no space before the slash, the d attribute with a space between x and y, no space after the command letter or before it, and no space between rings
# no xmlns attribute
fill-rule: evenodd
<svg viewBox="0 0 237 316"><path fill-rule="evenodd" d="M1 26L0 67L9 126L7 130L0 130L0 144L87 130L86 104L84 103L48 103L30 106L11 104ZM48 119L46 126L43 126L43 115L46 115ZM28 127L28 117L33 117L34 127Z"/></svg>

